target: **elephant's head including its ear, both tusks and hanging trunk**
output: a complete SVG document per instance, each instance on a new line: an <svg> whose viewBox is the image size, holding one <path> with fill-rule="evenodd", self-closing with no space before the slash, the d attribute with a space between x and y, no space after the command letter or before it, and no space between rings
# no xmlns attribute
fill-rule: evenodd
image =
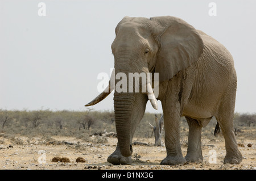
<svg viewBox="0 0 256 181"><path fill-rule="evenodd" d="M192 65L204 48L195 28L172 16L150 19L126 16L115 28L115 35L112 43L115 75L121 72L127 77L128 73L159 73L160 83ZM146 92L114 92L115 124L124 157L131 155L131 134L135 130L133 124L142 119L149 98L157 109L156 98L152 96L148 81L147 88ZM97 104L113 90L109 82L109 87L85 106Z"/></svg>

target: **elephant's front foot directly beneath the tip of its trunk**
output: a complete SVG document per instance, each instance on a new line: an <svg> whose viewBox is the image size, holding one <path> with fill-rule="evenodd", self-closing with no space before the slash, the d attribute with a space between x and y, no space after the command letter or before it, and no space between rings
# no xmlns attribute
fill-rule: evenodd
<svg viewBox="0 0 256 181"><path fill-rule="evenodd" d="M117 148L114 153L109 155L108 162L112 163L113 165L131 165L131 156L130 157L123 157L121 151Z"/></svg>

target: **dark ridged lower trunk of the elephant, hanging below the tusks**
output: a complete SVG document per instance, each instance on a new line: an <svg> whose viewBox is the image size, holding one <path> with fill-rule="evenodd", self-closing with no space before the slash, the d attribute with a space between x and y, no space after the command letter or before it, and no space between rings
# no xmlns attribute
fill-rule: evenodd
<svg viewBox="0 0 256 181"><path fill-rule="evenodd" d="M131 119L133 115L134 95L131 93L114 93L115 128L121 154L129 157L132 153Z"/></svg>

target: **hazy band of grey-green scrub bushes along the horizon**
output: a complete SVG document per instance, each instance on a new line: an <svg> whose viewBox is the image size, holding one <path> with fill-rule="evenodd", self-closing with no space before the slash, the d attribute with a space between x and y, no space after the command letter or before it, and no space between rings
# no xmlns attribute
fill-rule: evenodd
<svg viewBox="0 0 256 181"><path fill-rule="evenodd" d="M7 120L2 129L2 124L7 117L11 119ZM160 114L158 115L160 117ZM34 118L38 118L35 120ZM90 117L93 120L93 124L90 124L88 130L88 122L85 129L81 128L81 122L78 120L81 118ZM35 121L34 121L35 120ZM148 124L155 125L154 113L146 112L139 123L134 137L148 138L154 137L152 128ZM234 115L234 127L254 127L256 123L256 115L249 113L235 113ZM188 136L188 124L185 117L181 117L181 137L187 140ZM211 138L213 136L214 128L216 125L216 119L212 119L207 127L203 128L202 136ZM241 128L239 128L241 129ZM242 128L243 129L243 128ZM52 136L65 136L76 137L82 140L88 140L88 137L92 133L98 132L116 132L115 121L113 111L6 111L0 110L0 132L1 136L14 139L15 136L27 136L27 137L44 137L47 140L51 140ZM163 132L164 134L164 132ZM164 137L164 135L163 135ZM13 140L22 143L22 140ZM96 140L97 142L107 142L107 140Z"/></svg>

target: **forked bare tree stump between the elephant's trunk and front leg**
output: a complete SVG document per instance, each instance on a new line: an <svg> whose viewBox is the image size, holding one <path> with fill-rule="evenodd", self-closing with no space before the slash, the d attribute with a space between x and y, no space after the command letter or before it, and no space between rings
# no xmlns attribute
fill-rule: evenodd
<svg viewBox="0 0 256 181"><path fill-rule="evenodd" d="M155 114L155 124L156 124L155 127L150 123L148 123L150 124L155 134L155 146L163 146L163 143L162 143L163 123L164 123L163 114L160 116L159 121L158 121L158 116Z"/></svg>

